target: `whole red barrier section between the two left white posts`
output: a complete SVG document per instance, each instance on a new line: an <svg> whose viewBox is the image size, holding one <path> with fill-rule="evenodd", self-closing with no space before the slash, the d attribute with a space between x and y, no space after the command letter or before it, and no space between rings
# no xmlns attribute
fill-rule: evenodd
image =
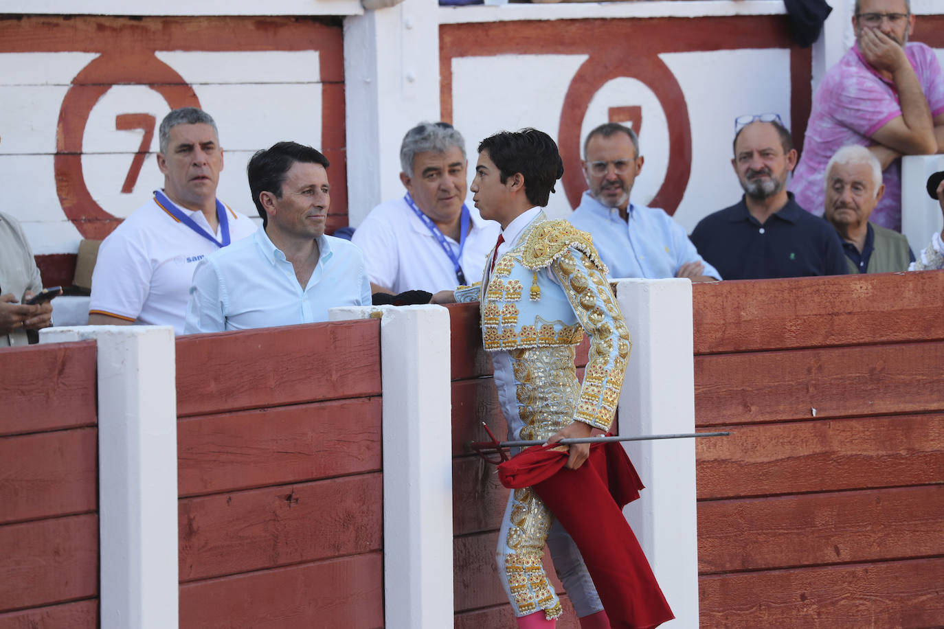
<svg viewBox="0 0 944 629"><path fill-rule="evenodd" d="M379 322L177 340L180 626L383 626Z"/></svg>

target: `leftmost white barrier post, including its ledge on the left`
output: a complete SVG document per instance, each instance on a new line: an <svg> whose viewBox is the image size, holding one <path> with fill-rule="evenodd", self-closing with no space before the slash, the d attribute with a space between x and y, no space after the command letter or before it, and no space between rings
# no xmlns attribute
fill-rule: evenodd
<svg viewBox="0 0 944 629"><path fill-rule="evenodd" d="M101 627L176 629L174 328L48 328L40 339L97 342Z"/></svg>

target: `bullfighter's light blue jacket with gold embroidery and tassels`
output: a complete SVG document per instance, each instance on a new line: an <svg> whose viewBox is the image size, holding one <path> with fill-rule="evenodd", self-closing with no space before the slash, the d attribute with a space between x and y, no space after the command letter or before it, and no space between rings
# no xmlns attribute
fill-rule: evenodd
<svg viewBox="0 0 944 629"><path fill-rule="evenodd" d="M486 269L487 273L487 269ZM566 221L531 222L481 285L456 290L480 301L486 350L574 346L590 337L575 420L608 430L630 354L630 332L589 234Z"/></svg>

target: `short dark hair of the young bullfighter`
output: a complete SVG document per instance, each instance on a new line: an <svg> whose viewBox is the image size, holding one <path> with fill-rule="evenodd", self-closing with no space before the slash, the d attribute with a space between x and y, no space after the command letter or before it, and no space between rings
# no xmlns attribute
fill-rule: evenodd
<svg viewBox="0 0 944 629"><path fill-rule="evenodd" d="M520 173L525 178L525 195L531 204L548 205L554 183L564 174L564 161L557 144L550 136L537 129L499 131L479 144L479 153L488 151L496 165L501 183Z"/></svg>

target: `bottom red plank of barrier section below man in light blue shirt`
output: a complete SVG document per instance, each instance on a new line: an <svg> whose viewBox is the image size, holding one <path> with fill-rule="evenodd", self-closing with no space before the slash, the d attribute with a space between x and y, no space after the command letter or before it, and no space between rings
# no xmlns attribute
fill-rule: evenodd
<svg viewBox="0 0 944 629"><path fill-rule="evenodd" d="M380 553L180 586L180 629L383 626Z"/></svg>

